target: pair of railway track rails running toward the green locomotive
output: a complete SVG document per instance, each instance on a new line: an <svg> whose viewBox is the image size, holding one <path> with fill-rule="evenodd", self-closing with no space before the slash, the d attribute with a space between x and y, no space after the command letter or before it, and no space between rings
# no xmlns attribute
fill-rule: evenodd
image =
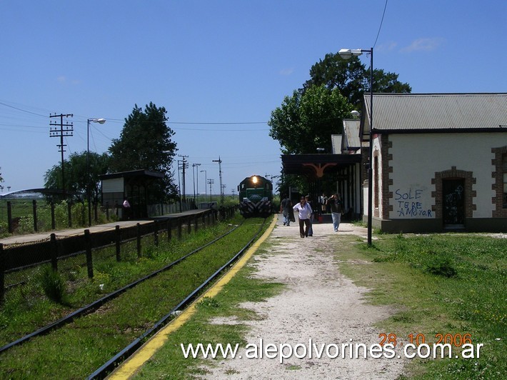
<svg viewBox="0 0 507 380"><path fill-rule="evenodd" d="M256 236L258 236L258 232L261 231L262 227L263 227L263 224L261 224L261 226L258 227L258 229L256 229L255 234L253 234L253 236L249 237L249 240L246 241L246 244L244 244L241 247L241 249L239 249L239 251L234 252L234 254L231 253L231 254L227 255L227 256L229 256L229 259L224 261L224 263L221 264L221 266L219 266L218 268L212 269L213 273L211 273L211 275L206 275L206 279L204 281L201 281L198 286L195 286L192 291L190 291L188 294L186 294L186 296L181 297L181 299L179 299L177 302L174 302L174 304L173 304L174 306L172 306L171 309L169 309L169 312L166 312L164 314L164 316L159 318L154 324L149 326L147 329L144 329L144 332L142 334L138 334L138 336L136 336L135 339L132 339L129 344L126 344L126 346L124 346L123 349L119 350L116 354L112 355L109 360L106 360L105 362L103 361L104 364L102 364L101 366L99 366L98 369L93 371L93 373L89 376L89 379L101 379L104 376L106 376L106 374L108 374L109 371L114 369L115 366L117 366L119 363L121 363L121 361L126 359L137 348L139 348L139 346L141 346L141 344L143 344L144 341L146 341L146 339L149 338L149 336L154 334L156 331L161 329L161 327L164 326L168 321L170 321L173 318L175 311L178 311L180 309L184 309L184 307L186 305L188 305L191 301L193 301L196 298L196 296L198 296L200 294L201 290L204 287L206 287L208 284L210 284L212 281L214 281L214 279L216 279L216 277L219 276L221 274L221 272L223 272L228 266L231 265L232 261L234 261L239 256L241 256L241 254L256 239ZM112 307L112 306L108 306L108 305L114 299L117 299L122 294L124 296L128 297L129 292L132 291L132 289L134 289L134 287L138 286L141 283L145 283L146 281L154 279L154 278L156 278L156 276L161 276L161 274L163 272L165 272L167 274L167 276L169 276L169 274L171 273L170 269L174 268L175 266L178 266L178 264L182 264L184 261L189 260L193 256L199 256L199 255L196 255L197 253L199 253L201 251L206 251L206 249L211 249L211 247L214 247L217 245L222 245L224 247L231 246L231 241L234 241L235 239L239 239L239 236L241 236L241 239L245 239L245 232L243 230L244 230L244 226L236 226L236 227L234 227L234 229L231 229L226 234L219 236L218 238L214 239L213 241L209 242L208 244L205 244L204 246L199 247L199 249L194 249L194 251L189 252L188 254L182 256L180 259L167 264L166 266L164 266L164 268L154 271L153 273L151 273L147 276L144 276L142 279L134 281L131 284L124 286L123 288L118 289L117 291L114 291L111 294L108 294L108 295L102 297L101 299L94 301L89 305L84 306L83 308L81 308L79 310L74 311L73 313L69 314L68 316L66 316L62 319L59 319L58 321L55 321L47 326L44 326L44 328L42 328L42 329L34 331L31 334L27 334L23 338L17 339L16 341L11 342L10 344L6 344L5 346L0 348L0 355L4 356L4 357L2 357L2 361L4 361L4 358L8 358L8 356L9 356L9 352L5 352L5 351L11 351L11 349L12 349L12 351L18 350L19 352L14 352L14 354L13 354L14 356L17 356L18 354L24 352L24 345L22 345L22 344L27 343L36 337L41 337L42 335L45 335L45 334L49 334L49 333L51 333L51 335L53 335L54 333L57 334L58 331L55 331L55 330L60 330L64 326L67 326L68 324L70 324L73 321L79 321L80 319L83 319L82 317L96 314L99 312L101 313L104 310L107 311L107 309ZM146 323L141 324L141 325L145 326ZM111 329L114 329L114 326L111 326ZM136 326L136 330L137 329L139 329L139 326ZM41 338L44 338L44 337L41 337ZM37 340L37 339L35 339L35 340ZM30 345L31 344L26 344L26 346L30 346ZM14 360L14 361L16 361L16 360ZM94 364L89 364L89 365L94 365ZM3 371L4 369L5 368L2 369L0 366L0 371ZM14 366L14 369L12 371L16 371L16 366ZM91 372L91 370L89 370L89 373L90 372ZM82 374L79 374L77 376L83 377Z"/></svg>

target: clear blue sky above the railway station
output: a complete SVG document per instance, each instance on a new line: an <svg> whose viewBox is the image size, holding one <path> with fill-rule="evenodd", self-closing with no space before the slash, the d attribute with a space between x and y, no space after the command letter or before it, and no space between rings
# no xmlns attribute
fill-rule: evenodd
<svg viewBox="0 0 507 380"><path fill-rule="evenodd" d="M219 156L227 193L246 176L277 175L271 111L326 53L370 49L385 4L0 0L4 192L44 186L59 164L50 113L74 114L68 157L86 150L87 118L107 119L91 124L90 149L101 153L134 104L150 101L166 107L178 154L201 164L214 193ZM374 66L398 73L414 93L507 92L506 36L504 0L388 0ZM190 167L187 193L192 180Z"/></svg>

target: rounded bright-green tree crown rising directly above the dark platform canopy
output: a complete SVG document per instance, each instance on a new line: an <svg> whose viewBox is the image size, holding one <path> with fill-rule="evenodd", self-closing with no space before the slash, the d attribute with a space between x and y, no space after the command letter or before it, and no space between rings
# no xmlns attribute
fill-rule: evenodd
<svg viewBox="0 0 507 380"><path fill-rule="evenodd" d="M331 152L331 134L342 130L342 119L352 107L337 88L309 86L293 91L271 112L269 136L278 140L283 154L316 154L317 148Z"/></svg>

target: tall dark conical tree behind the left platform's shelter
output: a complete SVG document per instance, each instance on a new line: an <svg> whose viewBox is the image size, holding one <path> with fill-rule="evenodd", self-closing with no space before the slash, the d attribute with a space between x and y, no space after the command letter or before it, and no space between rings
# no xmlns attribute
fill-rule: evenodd
<svg viewBox="0 0 507 380"><path fill-rule="evenodd" d="M167 111L150 102L143 109L134 106L125 119L124 129L119 139L113 139L109 147L111 171L131 171L146 169L165 174L164 185L155 189L156 196L169 194L175 196L174 174L171 164L176 155L176 142L171 140L174 131L167 126Z"/></svg>

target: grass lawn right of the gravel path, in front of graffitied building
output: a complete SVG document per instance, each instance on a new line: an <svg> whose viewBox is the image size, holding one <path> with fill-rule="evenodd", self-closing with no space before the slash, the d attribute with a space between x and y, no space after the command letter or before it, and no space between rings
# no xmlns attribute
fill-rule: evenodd
<svg viewBox="0 0 507 380"><path fill-rule="evenodd" d="M338 249L340 271L371 291L368 301L396 313L378 324L408 343L409 334L470 334L478 359L415 359L416 379L503 379L507 374L507 240L460 234L377 236L373 247L350 239ZM343 243L340 244L343 246ZM352 260L361 259L365 264ZM500 339L500 340L498 340Z"/></svg>

